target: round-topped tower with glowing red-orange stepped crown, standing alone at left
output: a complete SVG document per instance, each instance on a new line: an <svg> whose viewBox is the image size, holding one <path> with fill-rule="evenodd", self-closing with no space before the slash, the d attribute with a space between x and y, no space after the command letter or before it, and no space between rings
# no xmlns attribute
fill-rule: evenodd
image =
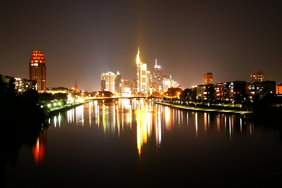
<svg viewBox="0 0 282 188"><path fill-rule="evenodd" d="M40 51L32 51L29 62L29 80L37 81L38 92L46 92L45 56Z"/></svg>

